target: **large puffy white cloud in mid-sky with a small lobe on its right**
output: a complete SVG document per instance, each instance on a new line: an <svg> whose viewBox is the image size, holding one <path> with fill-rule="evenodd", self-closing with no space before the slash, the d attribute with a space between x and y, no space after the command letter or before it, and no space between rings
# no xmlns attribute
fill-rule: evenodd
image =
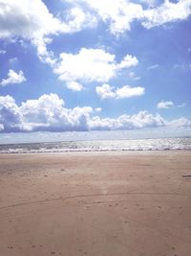
<svg viewBox="0 0 191 256"><path fill-rule="evenodd" d="M60 60L54 65L53 71L59 80L69 84L74 81L109 81L117 76L119 70L138 64L138 59L129 55L119 63L115 58L115 55L102 49L82 48L75 55L60 54Z"/></svg>

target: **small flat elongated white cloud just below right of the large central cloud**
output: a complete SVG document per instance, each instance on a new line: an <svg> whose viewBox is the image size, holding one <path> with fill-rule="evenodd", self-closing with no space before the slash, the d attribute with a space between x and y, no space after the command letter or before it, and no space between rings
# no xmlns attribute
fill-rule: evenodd
<svg viewBox="0 0 191 256"><path fill-rule="evenodd" d="M123 87L116 88L114 86L110 86L107 83L104 83L102 86L96 86L96 94L102 100L111 98L124 99L143 95L144 88L140 86L131 87L129 85L124 85Z"/></svg>

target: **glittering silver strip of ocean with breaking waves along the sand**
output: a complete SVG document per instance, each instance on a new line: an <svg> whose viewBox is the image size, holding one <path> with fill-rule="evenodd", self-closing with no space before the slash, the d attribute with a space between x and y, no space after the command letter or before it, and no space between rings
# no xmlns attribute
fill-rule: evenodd
<svg viewBox="0 0 191 256"><path fill-rule="evenodd" d="M68 151L175 151L191 150L191 137L161 139L90 140L0 145L0 153Z"/></svg>

